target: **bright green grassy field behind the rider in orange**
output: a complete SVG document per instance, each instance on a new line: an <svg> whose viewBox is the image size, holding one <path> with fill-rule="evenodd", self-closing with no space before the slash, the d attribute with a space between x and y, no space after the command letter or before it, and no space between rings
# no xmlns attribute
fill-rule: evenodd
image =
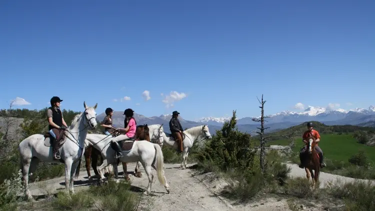
<svg viewBox="0 0 375 211"><path fill-rule="evenodd" d="M368 158L375 162L375 147L357 143L352 134L320 134L319 146L324 157L331 160L348 162L348 158L363 150ZM289 140L274 140L267 145L287 145ZM298 152L303 146L302 138L295 139L294 152Z"/></svg>

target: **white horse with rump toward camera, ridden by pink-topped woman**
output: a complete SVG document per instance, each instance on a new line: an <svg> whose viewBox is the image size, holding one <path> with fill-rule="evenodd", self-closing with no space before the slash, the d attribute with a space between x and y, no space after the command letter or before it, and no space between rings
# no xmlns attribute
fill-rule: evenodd
<svg viewBox="0 0 375 211"><path fill-rule="evenodd" d="M123 143L132 144L132 146L129 150L122 151L123 157L117 159L115 158L115 151L111 147L112 138L113 137L108 137L107 135L102 134L90 134L86 137L87 141L91 142L93 147L98 149L101 152L101 156L103 157L103 163L97 167L97 171L100 174L100 182L102 182L104 178L101 169L103 169L108 164L112 164L115 174L115 181L118 182L118 162L140 161L148 176L148 185L146 191L144 191L144 194L148 195L151 192L151 184L153 179L151 167L153 167L157 171L159 182L164 185L166 191L169 193L169 184L166 181L163 169L164 157L161 151L161 147L158 144L151 143L147 140L137 140L130 141L130 143Z"/></svg>

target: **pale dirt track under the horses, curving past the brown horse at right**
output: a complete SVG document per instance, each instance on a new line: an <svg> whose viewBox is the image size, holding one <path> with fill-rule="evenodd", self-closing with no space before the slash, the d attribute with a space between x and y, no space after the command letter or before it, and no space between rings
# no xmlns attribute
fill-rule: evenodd
<svg viewBox="0 0 375 211"><path fill-rule="evenodd" d="M225 186L225 182L221 179L214 178L212 173L194 175L192 169L179 169L180 164L165 163L164 171L167 182L170 186L170 193L167 194L165 188L160 185L157 180L156 172L152 170L154 175L154 182L152 184L151 196L144 196L140 202L139 210L289 210L286 199L284 198L264 198L259 201L248 203L248 204L235 204L229 202L218 196L221 187ZM296 164L287 163L291 167L290 176L302 176L305 177L304 169L299 168ZM191 165L189 165L191 166ZM135 167L135 163L128 164L128 169L132 170ZM119 165L119 172L122 172L122 167ZM134 177L129 174L131 178L131 184L133 186L142 188L142 191L147 187L148 179L144 173L143 168L142 178ZM94 175L91 171L91 175ZM122 175L119 176L121 179ZM325 186L328 181L335 182L335 179L341 179L342 181L354 181L354 178L329 174L320 173L321 186ZM75 190L82 188L88 188L90 183L87 180L86 171L81 171L79 178L74 182ZM55 193L59 190L63 190L64 176L35 182L30 184L30 191L32 195L45 195L47 191L49 193ZM46 191L47 190L47 191ZM310 209L305 209L310 210ZM311 210L320 210L314 209Z"/></svg>

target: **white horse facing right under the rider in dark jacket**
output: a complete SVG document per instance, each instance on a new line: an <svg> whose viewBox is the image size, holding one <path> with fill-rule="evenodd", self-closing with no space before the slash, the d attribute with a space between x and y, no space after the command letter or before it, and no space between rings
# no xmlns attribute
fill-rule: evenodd
<svg viewBox="0 0 375 211"><path fill-rule="evenodd" d="M152 138L158 138L160 137L160 134L163 139L163 142L161 145L165 144L167 148L172 148L172 149L177 150L178 143L174 140L174 138L171 136L170 133L159 132L157 130L154 130L152 133ZM182 137L183 138L182 140L183 154L182 154L182 162L181 162L182 169L186 168L187 155L189 154L189 150L192 147L192 144L198 137L201 137L202 138L201 140L212 138L211 134L209 133L207 125L194 126L183 131L183 137Z"/></svg>

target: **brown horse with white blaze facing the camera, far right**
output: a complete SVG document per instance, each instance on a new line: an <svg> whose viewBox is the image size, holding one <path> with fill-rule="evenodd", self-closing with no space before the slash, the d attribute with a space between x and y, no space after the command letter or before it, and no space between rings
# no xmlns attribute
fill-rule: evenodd
<svg viewBox="0 0 375 211"><path fill-rule="evenodd" d="M307 140L307 149L303 153L303 165L304 170L306 171L307 179L310 180L311 177L311 186L315 187L315 185L318 184L319 181L320 159L318 152L315 150L315 145L317 144L315 142L315 138L313 136L310 136L307 138ZM312 170L314 170L314 172L312 172Z"/></svg>

